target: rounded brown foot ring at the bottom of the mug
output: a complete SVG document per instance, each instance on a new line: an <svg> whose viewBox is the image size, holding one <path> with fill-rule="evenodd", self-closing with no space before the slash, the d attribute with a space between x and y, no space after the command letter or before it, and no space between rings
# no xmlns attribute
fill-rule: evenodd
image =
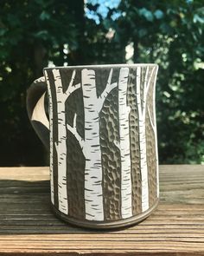
<svg viewBox="0 0 204 256"><path fill-rule="evenodd" d="M73 217L67 216L65 213L61 213L54 205L51 204L52 210L54 211L54 214L61 220L66 221L69 224L72 224L74 226L80 226L80 227L86 227L91 229L112 229L112 228L119 228L119 227L125 227L125 226L131 226L134 224L137 224L138 222L141 222L142 220L146 219L148 216L150 216L150 213L152 213L157 205L158 205L159 199L156 200L155 204L150 207L147 211L137 214L136 216L133 216L128 219L124 220L106 220L106 221L95 221L95 220L77 220Z"/></svg>

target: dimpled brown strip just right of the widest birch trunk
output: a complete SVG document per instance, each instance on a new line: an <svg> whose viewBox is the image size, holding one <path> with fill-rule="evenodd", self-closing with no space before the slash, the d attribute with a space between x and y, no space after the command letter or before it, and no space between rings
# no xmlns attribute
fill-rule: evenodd
<svg viewBox="0 0 204 256"><path fill-rule="evenodd" d="M96 78L97 86L99 82L105 85L109 72L110 69L98 71L100 78ZM117 78L118 70L113 70L112 82L117 82ZM101 92L102 90L99 91L99 94ZM121 218L120 152L114 141L118 141L118 89L113 89L107 96L100 112L105 220L120 220Z"/></svg>

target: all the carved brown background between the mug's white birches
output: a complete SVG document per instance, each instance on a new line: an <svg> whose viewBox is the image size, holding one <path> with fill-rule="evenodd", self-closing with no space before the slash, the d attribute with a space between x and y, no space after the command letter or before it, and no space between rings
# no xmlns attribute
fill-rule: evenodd
<svg viewBox="0 0 204 256"><path fill-rule="evenodd" d="M106 87L110 68L98 69L95 71L97 95ZM120 68L114 68L112 73L112 82L118 82L118 73ZM151 69L147 78L150 77ZM143 99L143 85L147 68L141 68L141 103ZM71 80L73 70L61 69L61 81L63 91L67 90ZM54 89L54 77L51 69L48 69L48 76L51 83L54 108L54 141L57 141L58 126L56 112L56 95ZM133 216L142 213L142 193L141 193L141 170L139 156L139 134L138 134L138 111L137 111L137 67L130 67L127 91L127 105L131 107L129 115L130 120L130 140L131 140L131 181L132 181L132 213ZM80 83L81 69L76 69L74 84ZM151 78L150 90L147 97L147 106L150 108L150 115L153 115L152 95L153 82L155 75ZM84 106L82 89L77 89L70 95L66 102L67 123L73 127L73 117L76 118L77 132L84 138ZM118 141L118 89L113 89L107 95L103 108L99 113L100 119L100 145L101 161L103 168L103 195L104 195L104 220L121 220L121 159L119 148L114 141ZM156 202L156 152L155 135L150 125L148 112L145 115L146 121L146 147L147 147L147 165L149 175L149 200L150 207ZM85 201L84 201L84 170L85 157L80 148L80 144L71 132L67 130L67 198L68 215L76 220L85 220ZM58 170L57 153L54 148L54 206L58 207Z"/></svg>

